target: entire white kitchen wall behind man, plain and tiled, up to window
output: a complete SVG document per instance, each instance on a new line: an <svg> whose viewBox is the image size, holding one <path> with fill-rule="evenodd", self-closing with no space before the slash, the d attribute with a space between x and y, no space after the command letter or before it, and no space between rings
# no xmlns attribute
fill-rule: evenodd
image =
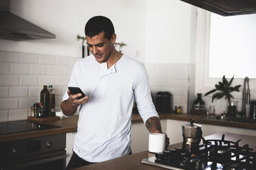
<svg viewBox="0 0 256 170"><path fill-rule="evenodd" d="M76 36L84 36L85 23L95 15L108 16L116 41L127 44L122 52L145 64L153 95L169 91L173 106L186 112L189 75L195 73L189 69L195 45L191 5L168 0L11 0L11 12L56 38L0 40L0 121L27 119L44 84L56 88L59 110L72 65L81 58L82 41Z"/></svg>

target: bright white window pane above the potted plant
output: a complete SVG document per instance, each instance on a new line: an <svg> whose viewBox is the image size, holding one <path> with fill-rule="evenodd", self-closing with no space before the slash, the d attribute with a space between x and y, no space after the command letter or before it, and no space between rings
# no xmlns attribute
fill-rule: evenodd
<svg viewBox="0 0 256 170"><path fill-rule="evenodd" d="M211 13L209 77L256 78L256 14Z"/></svg>

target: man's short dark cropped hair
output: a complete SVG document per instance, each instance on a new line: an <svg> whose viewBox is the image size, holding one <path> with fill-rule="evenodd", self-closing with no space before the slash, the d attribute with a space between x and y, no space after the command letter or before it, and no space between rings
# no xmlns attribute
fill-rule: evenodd
<svg viewBox="0 0 256 170"><path fill-rule="evenodd" d="M92 38L100 34L100 32L104 32L104 38L110 40L115 33L114 25L105 16L94 16L85 25L85 35Z"/></svg>

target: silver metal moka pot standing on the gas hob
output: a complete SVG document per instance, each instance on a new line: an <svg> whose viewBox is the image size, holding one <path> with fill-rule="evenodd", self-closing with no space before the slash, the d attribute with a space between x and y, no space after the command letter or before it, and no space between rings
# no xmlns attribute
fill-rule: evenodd
<svg viewBox="0 0 256 170"><path fill-rule="evenodd" d="M182 149L187 154L198 154L202 138L201 127L202 125L195 124L193 119L190 120L190 123L182 125Z"/></svg>

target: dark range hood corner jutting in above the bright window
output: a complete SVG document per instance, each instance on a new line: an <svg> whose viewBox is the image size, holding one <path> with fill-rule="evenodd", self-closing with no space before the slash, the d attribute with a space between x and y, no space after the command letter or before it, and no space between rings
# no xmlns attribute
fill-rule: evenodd
<svg viewBox="0 0 256 170"><path fill-rule="evenodd" d="M256 14L255 0L181 0L222 16Z"/></svg>

